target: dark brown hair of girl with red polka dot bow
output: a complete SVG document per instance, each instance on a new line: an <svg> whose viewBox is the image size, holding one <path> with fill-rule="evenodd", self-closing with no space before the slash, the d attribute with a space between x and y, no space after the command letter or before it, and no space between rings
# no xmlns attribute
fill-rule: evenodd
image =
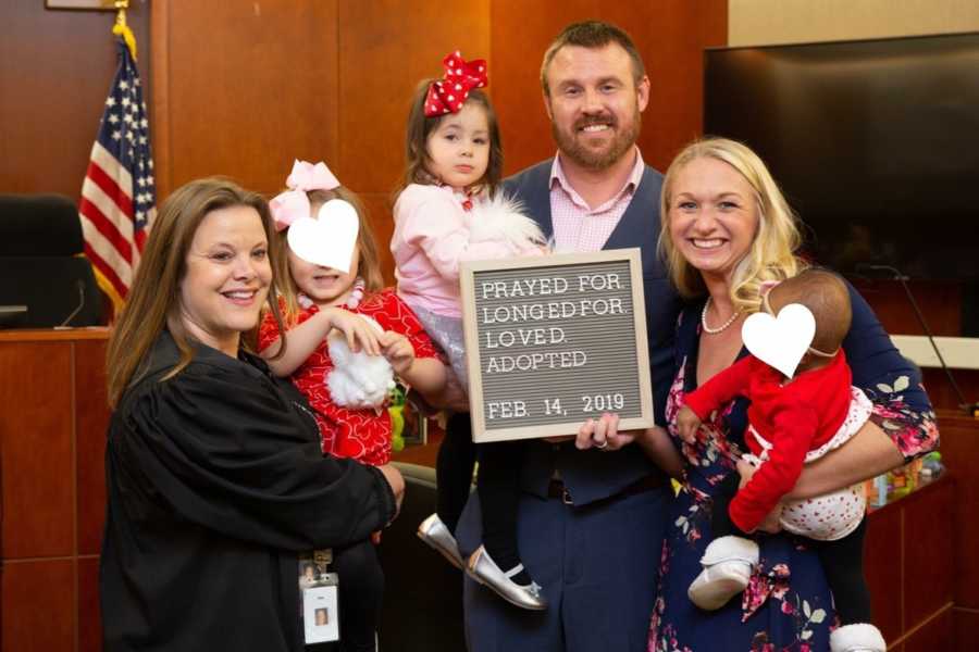
<svg viewBox="0 0 979 652"><path fill-rule="evenodd" d="M433 185L439 181L427 170L430 162L429 135L442 124L446 116L453 114L425 116L425 97L429 95L432 82L436 82L436 79L423 79L414 89L414 96L411 98L411 110L408 112L408 127L405 134L405 177L398 191L404 190L410 184ZM486 124L490 126L490 162L486 165L486 174L479 180L479 185L493 196L503 178L503 141L499 136L499 123L496 121L496 112L493 110L490 97L482 90L478 88L470 90L466 103L479 104L486 112Z"/></svg>

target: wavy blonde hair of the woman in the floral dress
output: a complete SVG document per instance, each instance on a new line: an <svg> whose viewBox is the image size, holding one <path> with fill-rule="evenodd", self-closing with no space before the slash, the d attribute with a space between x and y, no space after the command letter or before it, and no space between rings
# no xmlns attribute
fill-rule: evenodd
<svg viewBox="0 0 979 652"><path fill-rule="evenodd" d="M701 273L677 249L670 237L673 185L680 172L697 159L715 159L736 170L754 191L758 230L747 254L735 265L731 301L735 309L758 312L760 287L766 281L795 276L807 265L795 251L802 243L797 218L761 159L746 146L727 138L696 140L681 151L667 170L659 199L659 253L680 294L701 297L707 289Z"/></svg>

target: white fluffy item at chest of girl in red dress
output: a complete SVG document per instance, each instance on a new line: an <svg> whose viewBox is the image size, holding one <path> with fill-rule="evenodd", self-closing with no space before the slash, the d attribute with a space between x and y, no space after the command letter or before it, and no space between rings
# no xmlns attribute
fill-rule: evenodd
<svg viewBox="0 0 979 652"><path fill-rule="evenodd" d="M379 333L384 329L371 317L360 315ZM394 389L394 369L383 355L368 355L363 351L355 353L347 346L346 336L334 329L326 338L333 371L326 374L326 387L333 402L355 410L381 408Z"/></svg>

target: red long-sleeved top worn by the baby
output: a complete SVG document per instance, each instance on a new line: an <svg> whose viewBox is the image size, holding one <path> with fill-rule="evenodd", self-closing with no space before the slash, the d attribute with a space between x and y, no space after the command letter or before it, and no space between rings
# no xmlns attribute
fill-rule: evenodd
<svg viewBox="0 0 979 652"><path fill-rule="evenodd" d="M842 350L827 366L803 372L788 383L781 372L747 355L686 394L686 404L701 421L734 397L749 399L748 423L771 443L768 461L731 501L734 525L752 531L795 487L806 453L832 439L846 421L852 383ZM752 453L763 454L751 428L745 431L745 442Z"/></svg>

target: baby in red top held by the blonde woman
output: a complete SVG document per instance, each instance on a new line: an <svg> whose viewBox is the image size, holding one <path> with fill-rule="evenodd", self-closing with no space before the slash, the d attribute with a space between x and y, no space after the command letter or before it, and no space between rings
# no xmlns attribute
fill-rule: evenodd
<svg viewBox="0 0 979 652"><path fill-rule="evenodd" d="M720 609L747 586L758 565L758 546L748 537L792 490L803 466L848 441L870 415L870 401L852 386L841 348L851 322L846 285L833 274L808 269L782 281L764 299L765 310L772 315L790 303L804 305L816 322L813 341L793 377L745 355L686 394L677 415L681 438L693 443L711 412L736 397L752 401L745 434L751 454L743 460L756 469L740 488L739 474L724 478L714 502L715 540L702 560L704 570L689 591L691 600L705 610ZM830 638L832 652L885 649L880 631L868 624L865 511L863 484L782 506L782 528L810 540L833 591L844 627Z"/></svg>

